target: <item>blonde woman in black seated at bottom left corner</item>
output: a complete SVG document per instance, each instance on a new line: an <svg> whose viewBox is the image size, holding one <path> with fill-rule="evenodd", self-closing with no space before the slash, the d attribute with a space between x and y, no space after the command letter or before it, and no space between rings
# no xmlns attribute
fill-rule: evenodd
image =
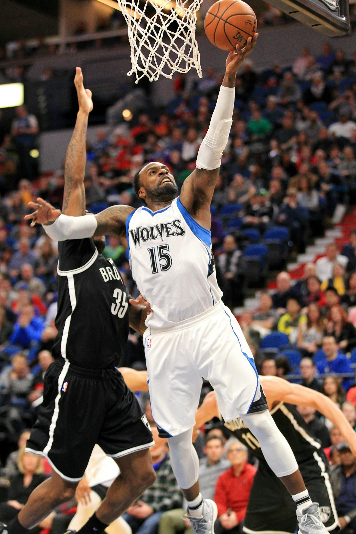
<svg viewBox="0 0 356 534"><path fill-rule="evenodd" d="M9 479L10 486L7 494L9 500L0 504L0 521L7 523L14 519L19 510L25 506L33 490L46 480L43 474L42 462L43 459L41 457L25 452L25 447L20 449L17 460L20 473L11 476ZM45 524L47 519L41 525ZM43 526L43 528L46 527ZM33 529L33 532L39 531L41 531L41 528Z"/></svg>

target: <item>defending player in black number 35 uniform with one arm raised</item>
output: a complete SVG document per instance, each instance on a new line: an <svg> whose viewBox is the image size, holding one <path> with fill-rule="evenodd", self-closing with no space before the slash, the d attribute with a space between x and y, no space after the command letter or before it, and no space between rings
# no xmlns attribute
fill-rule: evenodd
<svg viewBox="0 0 356 534"><path fill-rule="evenodd" d="M79 111L65 165L63 213L85 214L86 129L93 108L91 91L77 68ZM43 404L26 451L45 456L52 477L38 486L18 517L0 532L25 534L75 495L96 443L114 458L121 475L114 481L83 532L104 531L155 481L154 445L148 421L126 387L120 365L129 324L145 330L148 308L130 300L111 260L101 255L105 238L59 244L58 335L56 358L44 379Z"/></svg>

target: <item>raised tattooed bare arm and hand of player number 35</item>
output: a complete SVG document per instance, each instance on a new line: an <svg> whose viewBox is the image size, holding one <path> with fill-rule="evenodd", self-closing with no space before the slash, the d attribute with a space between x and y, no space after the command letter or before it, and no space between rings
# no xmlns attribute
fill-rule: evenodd
<svg viewBox="0 0 356 534"><path fill-rule="evenodd" d="M66 155L62 213L80 217L85 215L86 130L89 113L93 109L93 102L91 91L84 89L83 74L80 67L76 68L74 83L78 95L79 111Z"/></svg>

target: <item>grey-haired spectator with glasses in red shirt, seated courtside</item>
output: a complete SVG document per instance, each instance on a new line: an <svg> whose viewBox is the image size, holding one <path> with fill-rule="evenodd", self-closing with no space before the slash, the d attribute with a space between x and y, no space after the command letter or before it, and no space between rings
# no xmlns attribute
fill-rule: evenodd
<svg viewBox="0 0 356 534"><path fill-rule="evenodd" d="M220 475L216 483L214 500L218 506L218 520L215 523L215 533L238 534L242 532L242 522L257 469L247 463L247 447L238 439L230 438L226 443L226 451L231 468Z"/></svg>

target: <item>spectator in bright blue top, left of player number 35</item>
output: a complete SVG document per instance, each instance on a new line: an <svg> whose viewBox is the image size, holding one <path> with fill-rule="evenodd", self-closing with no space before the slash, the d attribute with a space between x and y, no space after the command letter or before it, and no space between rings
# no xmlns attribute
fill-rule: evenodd
<svg viewBox="0 0 356 534"><path fill-rule="evenodd" d="M25 305L15 323L10 342L14 345L20 345L23 349L28 349L33 343L41 341L43 330L43 318L35 317L33 306Z"/></svg>

